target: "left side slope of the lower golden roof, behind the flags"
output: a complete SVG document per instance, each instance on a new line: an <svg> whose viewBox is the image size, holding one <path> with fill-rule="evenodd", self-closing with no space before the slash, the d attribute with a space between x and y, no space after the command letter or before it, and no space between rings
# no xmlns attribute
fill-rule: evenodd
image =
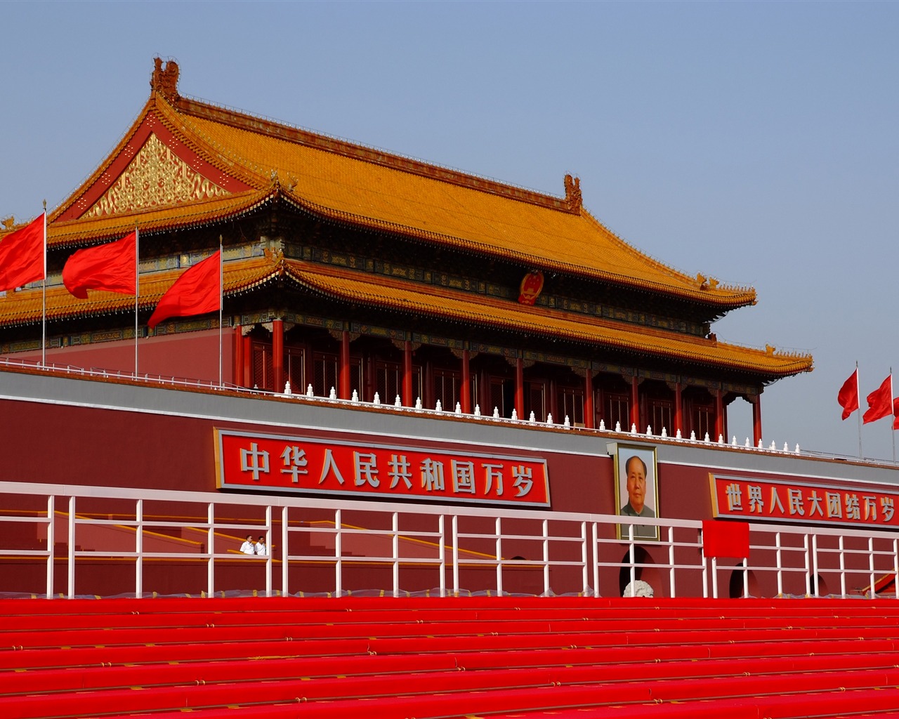
<svg viewBox="0 0 899 719"><path fill-rule="evenodd" d="M166 270L144 272L140 275L140 307L156 306L165 291L184 272ZM225 294L253 288L280 273L279 261L270 257L251 257L225 262L223 267ZM33 324L41 321L40 288L22 289L0 297L0 327ZM84 315L111 315L134 312L134 295L90 290L87 299L78 299L62 285L47 288L47 318L62 319Z"/></svg>

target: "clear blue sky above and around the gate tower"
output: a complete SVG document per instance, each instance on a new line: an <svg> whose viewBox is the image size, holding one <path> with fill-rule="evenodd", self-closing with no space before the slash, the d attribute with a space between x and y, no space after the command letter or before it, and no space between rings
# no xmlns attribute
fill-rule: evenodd
<svg viewBox="0 0 899 719"><path fill-rule="evenodd" d="M76 188L159 55L211 102L554 194L574 173L640 250L756 288L719 340L815 359L762 395L766 445L858 455L837 390L899 371L899 4L32 0L0 26L0 217ZM861 436L893 457L887 420Z"/></svg>

